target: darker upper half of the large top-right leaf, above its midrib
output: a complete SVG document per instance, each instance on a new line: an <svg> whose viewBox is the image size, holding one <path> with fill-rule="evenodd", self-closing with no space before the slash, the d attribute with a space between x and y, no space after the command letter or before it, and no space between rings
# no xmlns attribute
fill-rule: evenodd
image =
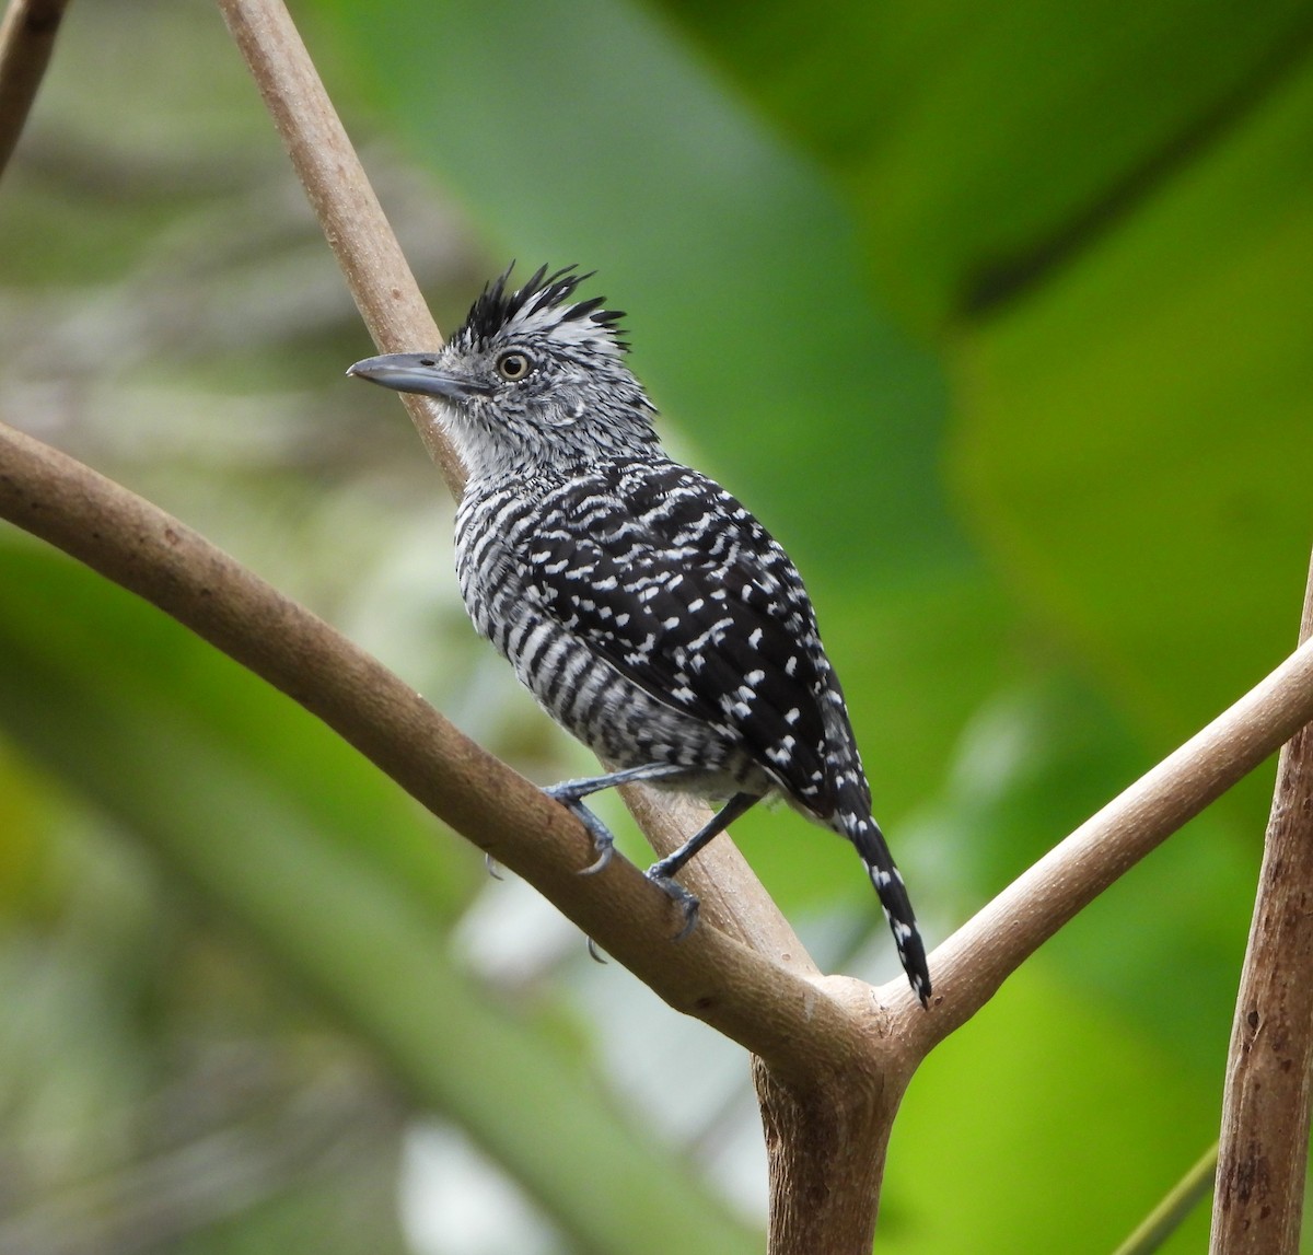
<svg viewBox="0 0 1313 1255"><path fill-rule="evenodd" d="M660 8L831 168L905 314L1043 285L1299 72L1300 0Z"/></svg>

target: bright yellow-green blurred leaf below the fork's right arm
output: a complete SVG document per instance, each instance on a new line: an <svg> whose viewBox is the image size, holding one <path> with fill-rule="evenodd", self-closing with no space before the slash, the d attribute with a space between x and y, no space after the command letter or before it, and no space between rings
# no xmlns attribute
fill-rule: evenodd
<svg viewBox="0 0 1313 1255"><path fill-rule="evenodd" d="M1170 1052L1037 964L913 1082L876 1250L1112 1251L1215 1136ZM1169 1250L1207 1234L1204 1205Z"/></svg>

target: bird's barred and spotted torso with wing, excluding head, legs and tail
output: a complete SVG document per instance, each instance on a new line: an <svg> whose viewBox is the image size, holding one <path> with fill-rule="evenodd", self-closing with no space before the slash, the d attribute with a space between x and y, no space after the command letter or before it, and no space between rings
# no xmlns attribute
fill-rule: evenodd
<svg viewBox="0 0 1313 1255"><path fill-rule="evenodd" d="M471 482L457 570L478 630L608 761L779 788L821 822L865 789L793 563L705 475L660 457Z"/></svg>

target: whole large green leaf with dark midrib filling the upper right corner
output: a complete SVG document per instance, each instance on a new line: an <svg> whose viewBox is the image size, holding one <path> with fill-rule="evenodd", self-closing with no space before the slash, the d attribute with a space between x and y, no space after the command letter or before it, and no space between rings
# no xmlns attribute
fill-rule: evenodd
<svg viewBox="0 0 1313 1255"><path fill-rule="evenodd" d="M1254 683L1308 559L1308 7L663 8L943 327L961 517L1064 647L1161 748Z"/></svg>

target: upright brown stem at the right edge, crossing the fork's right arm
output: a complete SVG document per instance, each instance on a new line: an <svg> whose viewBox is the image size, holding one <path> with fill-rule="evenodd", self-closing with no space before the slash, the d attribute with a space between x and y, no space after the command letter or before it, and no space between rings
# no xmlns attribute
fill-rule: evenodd
<svg viewBox="0 0 1313 1255"><path fill-rule="evenodd" d="M1313 568L1300 641L1313 637ZM1313 1069L1313 744L1281 750L1222 1100L1213 1255L1296 1255Z"/></svg>

